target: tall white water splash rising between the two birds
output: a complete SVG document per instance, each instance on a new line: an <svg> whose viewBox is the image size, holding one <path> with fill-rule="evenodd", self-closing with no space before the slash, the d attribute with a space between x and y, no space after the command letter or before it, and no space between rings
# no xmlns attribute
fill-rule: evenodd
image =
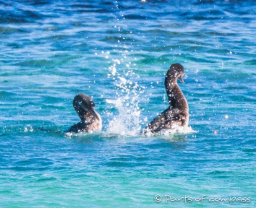
<svg viewBox="0 0 256 208"><path fill-rule="evenodd" d="M106 103L115 105L119 112L118 115L110 119L106 131L108 134L135 136L141 130L139 100L145 87L135 82L135 79L140 77L134 72L136 68L131 67L130 61L124 61L123 58L120 60L113 58L112 61L113 64L108 68L111 72L108 77L113 76L116 80L114 84L117 97L116 99L107 99Z"/></svg>

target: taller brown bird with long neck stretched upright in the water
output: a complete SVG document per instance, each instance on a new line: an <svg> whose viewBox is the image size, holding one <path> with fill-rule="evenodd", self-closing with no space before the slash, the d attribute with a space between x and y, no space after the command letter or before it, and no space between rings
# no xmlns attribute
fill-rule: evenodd
<svg viewBox="0 0 256 208"><path fill-rule="evenodd" d="M168 108L148 123L148 126L142 131L143 134L172 129L174 126L188 125L189 105L177 84L178 78L184 83L183 74L184 68L182 64L172 64L170 69L168 69L164 83L168 96Z"/></svg>

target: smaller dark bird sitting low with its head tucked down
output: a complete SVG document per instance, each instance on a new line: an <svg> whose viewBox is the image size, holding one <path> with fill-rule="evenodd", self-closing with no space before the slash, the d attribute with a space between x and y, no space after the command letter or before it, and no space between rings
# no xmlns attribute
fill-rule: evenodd
<svg viewBox="0 0 256 208"><path fill-rule="evenodd" d="M101 116L95 111L95 103L93 102L92 98L85 94L79 94L74 97L73 106L81 121L71 126L66 132L78 133L81 131L101 131Z"/></svg>

